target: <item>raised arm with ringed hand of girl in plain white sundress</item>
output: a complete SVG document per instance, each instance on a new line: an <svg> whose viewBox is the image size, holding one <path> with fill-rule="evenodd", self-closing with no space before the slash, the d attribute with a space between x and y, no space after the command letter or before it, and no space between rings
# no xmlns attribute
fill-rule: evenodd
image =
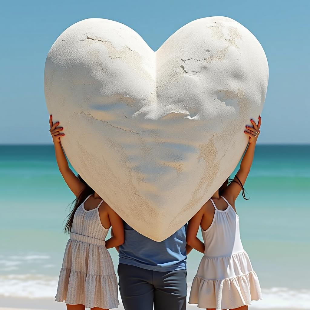
<svg viewBox="0 0 310 310"><path fill-rule="evenodd" d="M224 196L228 201L230 201L233 205L238 197L238 195L241 192L241 186L239 185L240 182L242 186L246 182L246 178L249 175L250 168L252 166L253 158L254 158L254 152L255 152L255 146L256 141L258 138L258 135L260 133L260 125L261 125L261 117L258 118L258 124L254 122L254 120L251 119L251 123L253 127L246 126L246 130L244 133L249 136L249 144L246 148L246 152L244 153L244 156L241 160L240 169L237 172L237 177L234 177L234 181L231 182L227 189L224 192Z"/></svg>

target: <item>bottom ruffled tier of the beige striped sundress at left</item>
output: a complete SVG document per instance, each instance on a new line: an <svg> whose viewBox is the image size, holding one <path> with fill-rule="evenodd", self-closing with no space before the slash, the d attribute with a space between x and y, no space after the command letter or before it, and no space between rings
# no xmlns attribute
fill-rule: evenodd
<svg viewBox="0 0 310 310"><path fill-rule="evenodd" d="M118 287L115 273L95 275L61 268L55 300L69 304L82 304L86 308L117 308Z"/></svg>

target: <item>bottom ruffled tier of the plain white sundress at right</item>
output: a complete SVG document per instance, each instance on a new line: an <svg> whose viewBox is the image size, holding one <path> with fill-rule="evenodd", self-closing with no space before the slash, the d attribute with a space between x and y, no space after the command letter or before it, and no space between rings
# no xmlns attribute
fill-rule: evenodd
<svg viewBox="0 0 310 310"><path fill-rule="evenodd" d="M188 303L199 308L234 309L262 299L256 273L250 271L237 277L209 280L195 276Z"/></svg>

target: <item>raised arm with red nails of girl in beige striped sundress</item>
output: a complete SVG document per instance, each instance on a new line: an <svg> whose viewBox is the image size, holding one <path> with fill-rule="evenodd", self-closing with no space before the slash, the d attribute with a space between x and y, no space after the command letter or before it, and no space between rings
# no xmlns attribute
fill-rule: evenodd
<svg viewBox="0 0 310 310"><path fill-rule="evenodd" d="M71 189L72 193L78 197L82 190L85 188L85 184L83 184L69 168L67 158L64 155L64 150L62 149L60 142L60 139L64 136L64 133L60 133L60 131L63 131L64 128L57 127L58 125L59 122L55 122L55 124L53 124L53 118L50 115L50 132L53 138L55 156L59 171Z"/></svg>

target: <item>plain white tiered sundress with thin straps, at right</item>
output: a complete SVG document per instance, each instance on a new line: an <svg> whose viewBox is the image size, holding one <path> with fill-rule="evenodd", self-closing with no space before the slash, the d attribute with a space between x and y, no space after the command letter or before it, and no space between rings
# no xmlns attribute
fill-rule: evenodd
<svg viewBox="0 0 310 310"><path fill-rule="evenodd" d="M222 196L221 196L222 197ZM239 216L228 203L218 210L212 224L202 230L205 254L201 259L189 296L199 308L234 309L262 299L258 277L243 249Z"/></svg>

